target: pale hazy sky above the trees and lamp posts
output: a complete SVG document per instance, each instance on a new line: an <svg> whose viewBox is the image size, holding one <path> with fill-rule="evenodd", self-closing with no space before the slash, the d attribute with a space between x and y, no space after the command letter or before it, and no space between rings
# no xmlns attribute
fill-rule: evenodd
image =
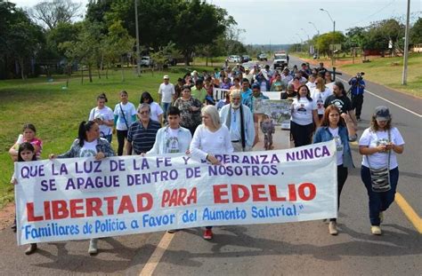
<svg viewBox="0 0 422 276"><path fill-rule="evenodd" d="M153 1L153 0L151 0ZM31 7L37 0L10 0L20 7ZM87 0L79 0L83 6ZM300 43L308 37L333 30L345 33L353 27L366 27L373 21L390 18L405 22L407 0L207 0L224 8L244 29L240 41L246 44ZM322 12L320 9L329 12ZM410 0L411 19L422 17L422 0ZM312 22L315 27L313 27ZM315 29L316 28L316 29Z"/></svg>

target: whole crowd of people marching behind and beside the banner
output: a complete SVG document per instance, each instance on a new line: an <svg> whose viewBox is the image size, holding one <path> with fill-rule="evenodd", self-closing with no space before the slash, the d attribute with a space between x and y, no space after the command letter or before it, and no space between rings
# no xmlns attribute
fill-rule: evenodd
<svg viewBox="0 0 422 276"><path fill-rule="evenodd" d="M158 87L158 99L142 92L136 107L126 91L120 91L114 110L106 106L105 93L96 99L88 121L80 122L77 138L69 151L49 154L49 158L93 156L97 160L114 155L190 154L198 160L218 165L216 154L231 154L252 150L259 141L258 130L264 133L264 148L272 150L274 125L269 114L257 114L255 102L269 99L263 91L277 93L280 99L291 101L290 137L294 146L305 146L334 139L337 145L337 197L353 168L349 142L357 139L357 122L365 82L362 74L353 77L348 91L321 63L311 68L303 63L291 70L271 70L268 65L251 68L215 68L214 72L193 71L177 83L164 75ZM334 75L335 77L335 75ZM221 95L215 88L223 89ZM277 96L278 97L278 96ZM25 124L18 141L9 153L14 162L39 160L43 150L33 124ZM118 152L110 145L117 137ZM370 126L361 133L359 153L362 154L361 180L368 191L371 233L381 234L383 212L394 201L399 170L396 154L402 154L404 141L392 125L386 106L377 106ZM18 184L15 177L11 182ZM16 223L12 226L16 230ZM173 233L175 230L170 231ZM336 218L329 218L329 233L337 234ZM212 239L212 226L206 227L204 239ZM36 252L32 243L26 254ZM92 239L89 254L98 252L97 239Z"/></svg>

